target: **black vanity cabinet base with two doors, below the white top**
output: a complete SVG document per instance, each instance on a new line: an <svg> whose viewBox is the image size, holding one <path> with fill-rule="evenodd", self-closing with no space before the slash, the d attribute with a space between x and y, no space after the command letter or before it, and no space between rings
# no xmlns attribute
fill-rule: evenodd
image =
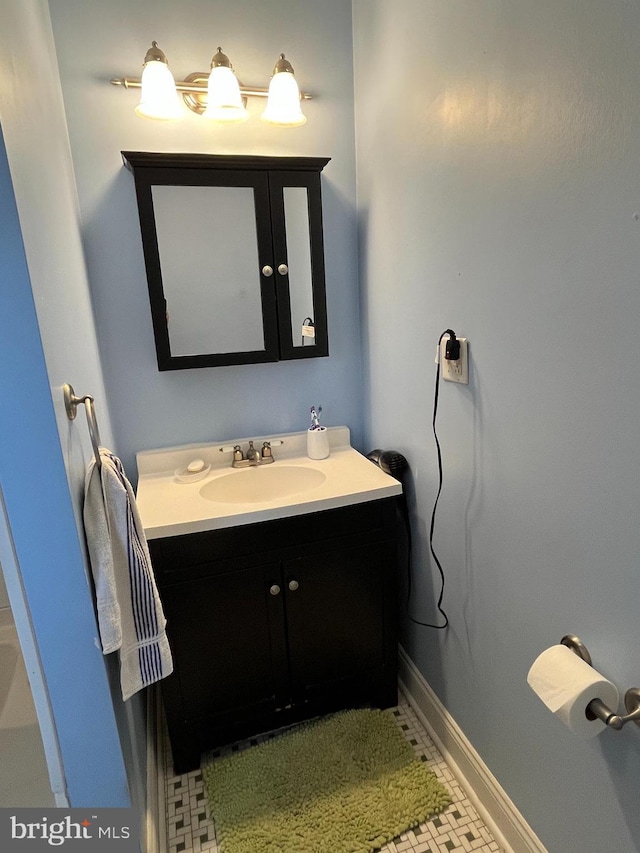
<svg viewBox="0 0 640 853"><path fill-rule="evenodd" d="M242 737L396 703L395 498L149 546L176 772Z"/></svg>

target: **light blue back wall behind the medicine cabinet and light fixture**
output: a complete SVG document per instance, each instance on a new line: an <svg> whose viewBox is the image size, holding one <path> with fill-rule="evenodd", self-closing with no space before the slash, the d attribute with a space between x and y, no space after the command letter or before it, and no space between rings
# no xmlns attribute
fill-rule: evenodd
<svg viewBox="0 0 640 853"><path fill-rule="evenodd" d="M144 448L304 429L312 403L323 406L328 424L350 426L359 442L350 2L51 0L50 8L112 425L128 470L135 474L134 454ZM236 127L192 113L178 124L138 118L136 92L108 81L139 76L152 39L178 78L206 71L222 45L244 83L265 86L285 52L301 87L316 95L305 105L307 125L269 127L258 118L264 103L255 99L252 119ZM323 172L330 357L159 373L122 150L331 157Z"/></svg>

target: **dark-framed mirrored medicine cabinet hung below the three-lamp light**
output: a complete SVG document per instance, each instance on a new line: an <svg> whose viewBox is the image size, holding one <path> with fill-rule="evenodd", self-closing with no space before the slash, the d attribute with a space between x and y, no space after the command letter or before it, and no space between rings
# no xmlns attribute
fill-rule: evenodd
<svg viewBox="0 0 640 853"><path fill-rule="evenodd" d="M326 157L123 151L159 370L329 354Z"/></svg>

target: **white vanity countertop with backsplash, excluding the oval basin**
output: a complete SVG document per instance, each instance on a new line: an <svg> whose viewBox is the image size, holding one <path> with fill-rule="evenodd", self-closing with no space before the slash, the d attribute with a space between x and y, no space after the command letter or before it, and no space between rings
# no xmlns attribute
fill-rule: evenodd
<svg viewBox="0 0 640 853"><path fill-rule="evenodd" d="M235 444L246 449L248 438L141 451L136 457L139 474L136 501L147 539L288 518L393 497L402 492L396 479L351 447L348 427L329 427L328 434L330 455L319 460L306 455L306 431L251 436L256 447L261 447L263 441L283 442L273 448L275 461L265 466L274 475L278 466L314 468L325 475L324 481L314 488L260 503L217 502L200 494L200 490L216 478L234 471L255 470L232 468L232 452L221 451L222 447ZM175 471L186 468L193 459L204 460L211 466L210 471L204 478L180 482Z"/></svg>

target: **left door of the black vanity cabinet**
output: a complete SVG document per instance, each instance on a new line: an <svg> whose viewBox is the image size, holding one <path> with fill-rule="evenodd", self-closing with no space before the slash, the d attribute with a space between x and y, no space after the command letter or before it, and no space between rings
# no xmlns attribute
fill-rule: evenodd
<svg viewBox="0 0 640 853"><path fill-rule="evenodd" d="M267 564L176 583L161 591L174 657L165 683L180 719L225 722L286 704L287 650L280 567Z"/></svg>

